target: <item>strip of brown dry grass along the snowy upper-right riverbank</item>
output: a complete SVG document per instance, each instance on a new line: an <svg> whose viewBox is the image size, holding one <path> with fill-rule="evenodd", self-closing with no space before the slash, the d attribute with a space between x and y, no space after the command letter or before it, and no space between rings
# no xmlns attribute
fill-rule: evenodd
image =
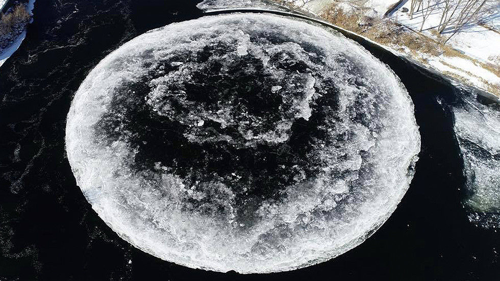
<svg viewBox="0 0 500 281"><path fill-rule="evenodd" d="M288 1L273 0L285 6L292 6L293 10L301 10L304 7L294 6ZM388 46L399 53L406 54L411 59L424 65L437 68L440 72L451 76L466 84L477 86L500 97L500 87L484 79L481 71L484 69L500 77L500 64L488 63L467 56L449 44L445 44L446 37L439 34L428 36L414 31L405 25L399 24L389 18L368 17L363 8L352 9L353 12L345 12L337 2L332 1L327 7L321 9L322 13L316 14L324 21L330 22L342 29L364 36L381 45ZM498 58L500 60L500 58ZM455 62L467 62L469 67L456 65ZM480 81L479 83L471 81ZM477 86L479 87L479 86Z"/></svg>

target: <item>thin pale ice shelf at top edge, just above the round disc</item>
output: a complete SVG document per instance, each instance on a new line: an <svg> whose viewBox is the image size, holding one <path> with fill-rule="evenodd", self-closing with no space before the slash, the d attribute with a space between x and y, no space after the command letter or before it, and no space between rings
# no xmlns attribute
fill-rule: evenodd
<svg viewBox="0 0 500 281"><path fill-rule="evenodd" d="M265 9L288 11L288 9L284 6L280 6L268 0L205 0L196 5L196 7L205 12L215 12L228 9Z"/></svg>

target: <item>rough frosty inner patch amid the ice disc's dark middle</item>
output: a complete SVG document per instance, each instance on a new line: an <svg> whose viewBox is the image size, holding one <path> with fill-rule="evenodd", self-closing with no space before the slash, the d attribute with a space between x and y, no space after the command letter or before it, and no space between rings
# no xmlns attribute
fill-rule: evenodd
<svg viewBox="0 0 500 281"><path fill-rule="evenodd" d="M292 42L267 42L264 49L241 30L206 43L205 49L178 54L182 62L170 63L166 75L148 83L146 103L158 115L188 125L190 141L282 143L295 121L309 120L318 95L308 69L323 68L313 61L315 53Z"/></svg>

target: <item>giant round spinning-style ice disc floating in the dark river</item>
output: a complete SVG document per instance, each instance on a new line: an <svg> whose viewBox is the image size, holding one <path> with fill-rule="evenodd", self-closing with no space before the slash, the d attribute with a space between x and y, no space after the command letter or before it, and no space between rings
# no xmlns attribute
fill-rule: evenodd
<svg viewBox="0 0 500 281"><path fill-rule="evenodd" d="M419 147L387 66L270 14L133 39L88 75L66 127L77 183L119 236L166 261L242 273L362 243L408 189Z"/></svg>

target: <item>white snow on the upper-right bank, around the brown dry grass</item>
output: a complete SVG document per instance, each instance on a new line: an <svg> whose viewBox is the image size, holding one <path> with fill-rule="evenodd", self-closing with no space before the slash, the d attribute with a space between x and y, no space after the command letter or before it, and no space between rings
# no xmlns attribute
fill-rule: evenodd
<svg viewBox="0 0 500 281"><path fill-rule="evenodd" d="M298 6L303 6L301 4L302 0L289 1ZM363 6L365 15L383 18L385 13L396 2L397 0L359 0L357 4ZM303 8L311 13L319 15L332 3L334 3L334 0L312 0L306 3ZM439 1L437 7L423 25L421 34L432 39L438 39L431 30L438 25L443 6L444 2ZM339 7L346 12L353 11L353 7L345 3L342 4L340 2ZM410 9L410 1L405 0L398 5L397 9L389 15L389 18L404 24L414 31L420 31L423 12L418 11L414 13L413 19L410 19L409 12L403 12L404 8ZM487 26L471 25L453 36L452 39L447 42L448 46L459 50L460 53L470 59L463 57L447 57L444 55L436 57L422 53L415 55L415 53L412 54L410 52L408 47L399 46L397 44L389 45L388 47L397 50L398 53L402 53L403 55L410 56L413 59L423 62L427 66L442 73L459 78L461 81L472 86L487 91L491 91L492 88L499 89L500 77L484 68L481 63L492 66L500 64L500 4L496 7L492 7L490 13L485 15L484 18L488 19ZM450 35L451 32L443 34L445 37Z"/></svg>

